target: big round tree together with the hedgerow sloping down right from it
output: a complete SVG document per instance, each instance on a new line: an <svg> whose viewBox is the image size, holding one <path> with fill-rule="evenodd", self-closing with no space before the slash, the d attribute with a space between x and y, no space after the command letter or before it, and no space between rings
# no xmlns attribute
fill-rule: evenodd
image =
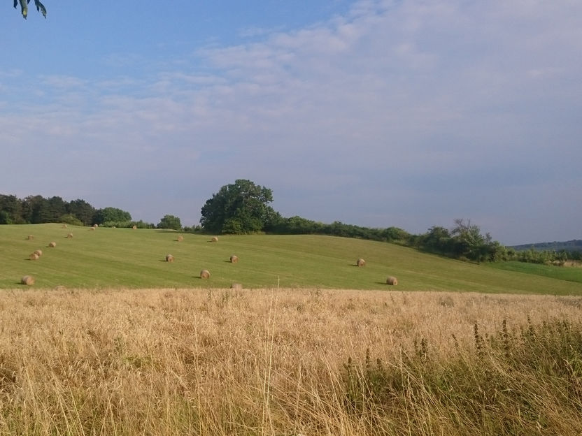
<svg viewBox="0 0 582 436"><path fill-rule="evenodd" d="M369 228L340 221L324 224L298 216L286 218L271 208L272 201L271 189L250 180L236 180L221 187L206 201L201 210L201 226L213 233L313 234L376 240L475 262L516 260L559 264L581 258L576 252L518 252L493 240L489 233L481 233L481 228L470 219L455 219L451 229L434 226L426 233L415 235L394 226Z"/></svg>

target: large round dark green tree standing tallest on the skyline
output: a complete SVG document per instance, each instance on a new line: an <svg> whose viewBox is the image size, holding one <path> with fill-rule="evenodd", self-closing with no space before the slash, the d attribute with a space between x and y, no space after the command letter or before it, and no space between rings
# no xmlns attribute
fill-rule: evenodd
<svg viewBox="0 0 582 436"><path fill-rule="evenodd" d="M209 198L201 210L200 224L213 233L256 233L276 215L268 203L271 189L250 180L236 180Z"/></svg>

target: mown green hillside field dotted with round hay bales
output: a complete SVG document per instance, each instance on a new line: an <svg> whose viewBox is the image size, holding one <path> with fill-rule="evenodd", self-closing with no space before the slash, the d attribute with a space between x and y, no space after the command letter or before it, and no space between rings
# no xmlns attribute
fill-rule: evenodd
<svg viewBox="0 0 582 436"><path fill-rule="evenodd" d="M73 233L73 238L66 238ZM28 240L34 235L34 240ZM177 242L178 235L184 240ZM491 293L582 294L582 285L527 271L516 272L444 259L383 242L320 235L207 235L162 230L61 224L0 226L0 288L245 288L395 289ZM57 246L48 247L54 241ZM29 254L42 249L36 261ZM175 257L165 261L166 254ZM232 254L239 263L230 263ZM358 258L366 260L358 268ZM200 279L202 269L211 278Z"/></svg>

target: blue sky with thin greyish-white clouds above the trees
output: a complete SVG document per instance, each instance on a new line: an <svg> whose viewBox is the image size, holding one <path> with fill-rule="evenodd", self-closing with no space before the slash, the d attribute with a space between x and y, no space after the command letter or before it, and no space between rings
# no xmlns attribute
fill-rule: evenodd
<svg viewBox="0 0 582 436"><path fill-rule="evenodd" d="M578 0L44 3L0 11L1 194L582 238Z"/></svg>

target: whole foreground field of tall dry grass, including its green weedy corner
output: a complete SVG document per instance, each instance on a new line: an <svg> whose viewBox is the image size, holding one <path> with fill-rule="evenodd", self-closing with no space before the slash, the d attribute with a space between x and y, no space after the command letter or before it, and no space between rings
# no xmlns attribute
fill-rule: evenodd
<svg viewBox="0 0 582 436"><path fill-rule="evenodd" d="M574 435L582 298L0 293L1 435Z"/></svg>

